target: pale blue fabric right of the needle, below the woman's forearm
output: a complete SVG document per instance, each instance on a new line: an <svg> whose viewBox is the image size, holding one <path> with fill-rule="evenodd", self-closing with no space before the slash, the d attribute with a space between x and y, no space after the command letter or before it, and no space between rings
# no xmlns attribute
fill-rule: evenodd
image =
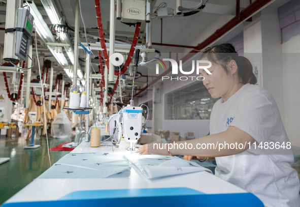
<svg viewBox="0 0 300 207"><path fill-rule="evenodd" d="M127 155L126 158L136 165L148 179L200 171L212 173L211 170L195 162L178 157L132 154Z"/></svg>

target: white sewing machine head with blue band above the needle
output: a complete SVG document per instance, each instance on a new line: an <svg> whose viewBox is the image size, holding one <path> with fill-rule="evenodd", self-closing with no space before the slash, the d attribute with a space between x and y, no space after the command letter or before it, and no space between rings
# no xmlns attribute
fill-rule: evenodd
<svg viewBox="0 0 300 207"><path fill-rule="evenodd" d="M118 137L128 141L129 150L136 150L136 143L142 133L142 117L143 108L138 106L130 106L129 104L122 108L118 113Z"/></svg>

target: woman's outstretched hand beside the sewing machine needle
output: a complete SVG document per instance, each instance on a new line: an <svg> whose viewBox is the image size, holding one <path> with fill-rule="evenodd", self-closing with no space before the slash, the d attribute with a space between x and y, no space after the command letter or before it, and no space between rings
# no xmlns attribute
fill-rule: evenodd
<svg viewBox="0 0 300 207"><path fill-rule="evenodd" d="M149 153L156 155L169 155L168 144L162 142L144 144L143 146L139 147L139 150L137 150L136 153L142 153L143 155L147 155Z"/></svg>

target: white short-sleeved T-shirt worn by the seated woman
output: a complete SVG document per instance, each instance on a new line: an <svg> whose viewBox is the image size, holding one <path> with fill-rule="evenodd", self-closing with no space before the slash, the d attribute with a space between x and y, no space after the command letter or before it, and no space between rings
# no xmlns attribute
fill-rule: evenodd
<svg viewBox="0 0 300 207"><path fill-rule="evenodd" d="M289 141L274 98L258 85L246 84L224 103L220 99L214 104L210 133L223 132L229 126L251 135L256 146L265 141ZM238 155L217 157L215 174L253 193L265 206L300 206L292 151L251 147Z"/></svg>

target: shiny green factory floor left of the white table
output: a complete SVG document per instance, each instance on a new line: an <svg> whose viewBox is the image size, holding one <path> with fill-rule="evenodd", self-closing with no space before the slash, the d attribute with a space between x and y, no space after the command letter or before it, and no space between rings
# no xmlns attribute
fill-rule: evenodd
<svg viewBox="0 0 300 207"><path fill-rule="evenodd" d="M74 141L75 138L49 138L49 148L60 143ZM35 141L41 147L35 150L24 150L23 146L30 144L25 138L11 138L2 135L0 138L0 157L10 160L0 164L0 205L12 197L40 174L50 167L46 137ZM50 151L51 163L71 151Z"/></svg>

